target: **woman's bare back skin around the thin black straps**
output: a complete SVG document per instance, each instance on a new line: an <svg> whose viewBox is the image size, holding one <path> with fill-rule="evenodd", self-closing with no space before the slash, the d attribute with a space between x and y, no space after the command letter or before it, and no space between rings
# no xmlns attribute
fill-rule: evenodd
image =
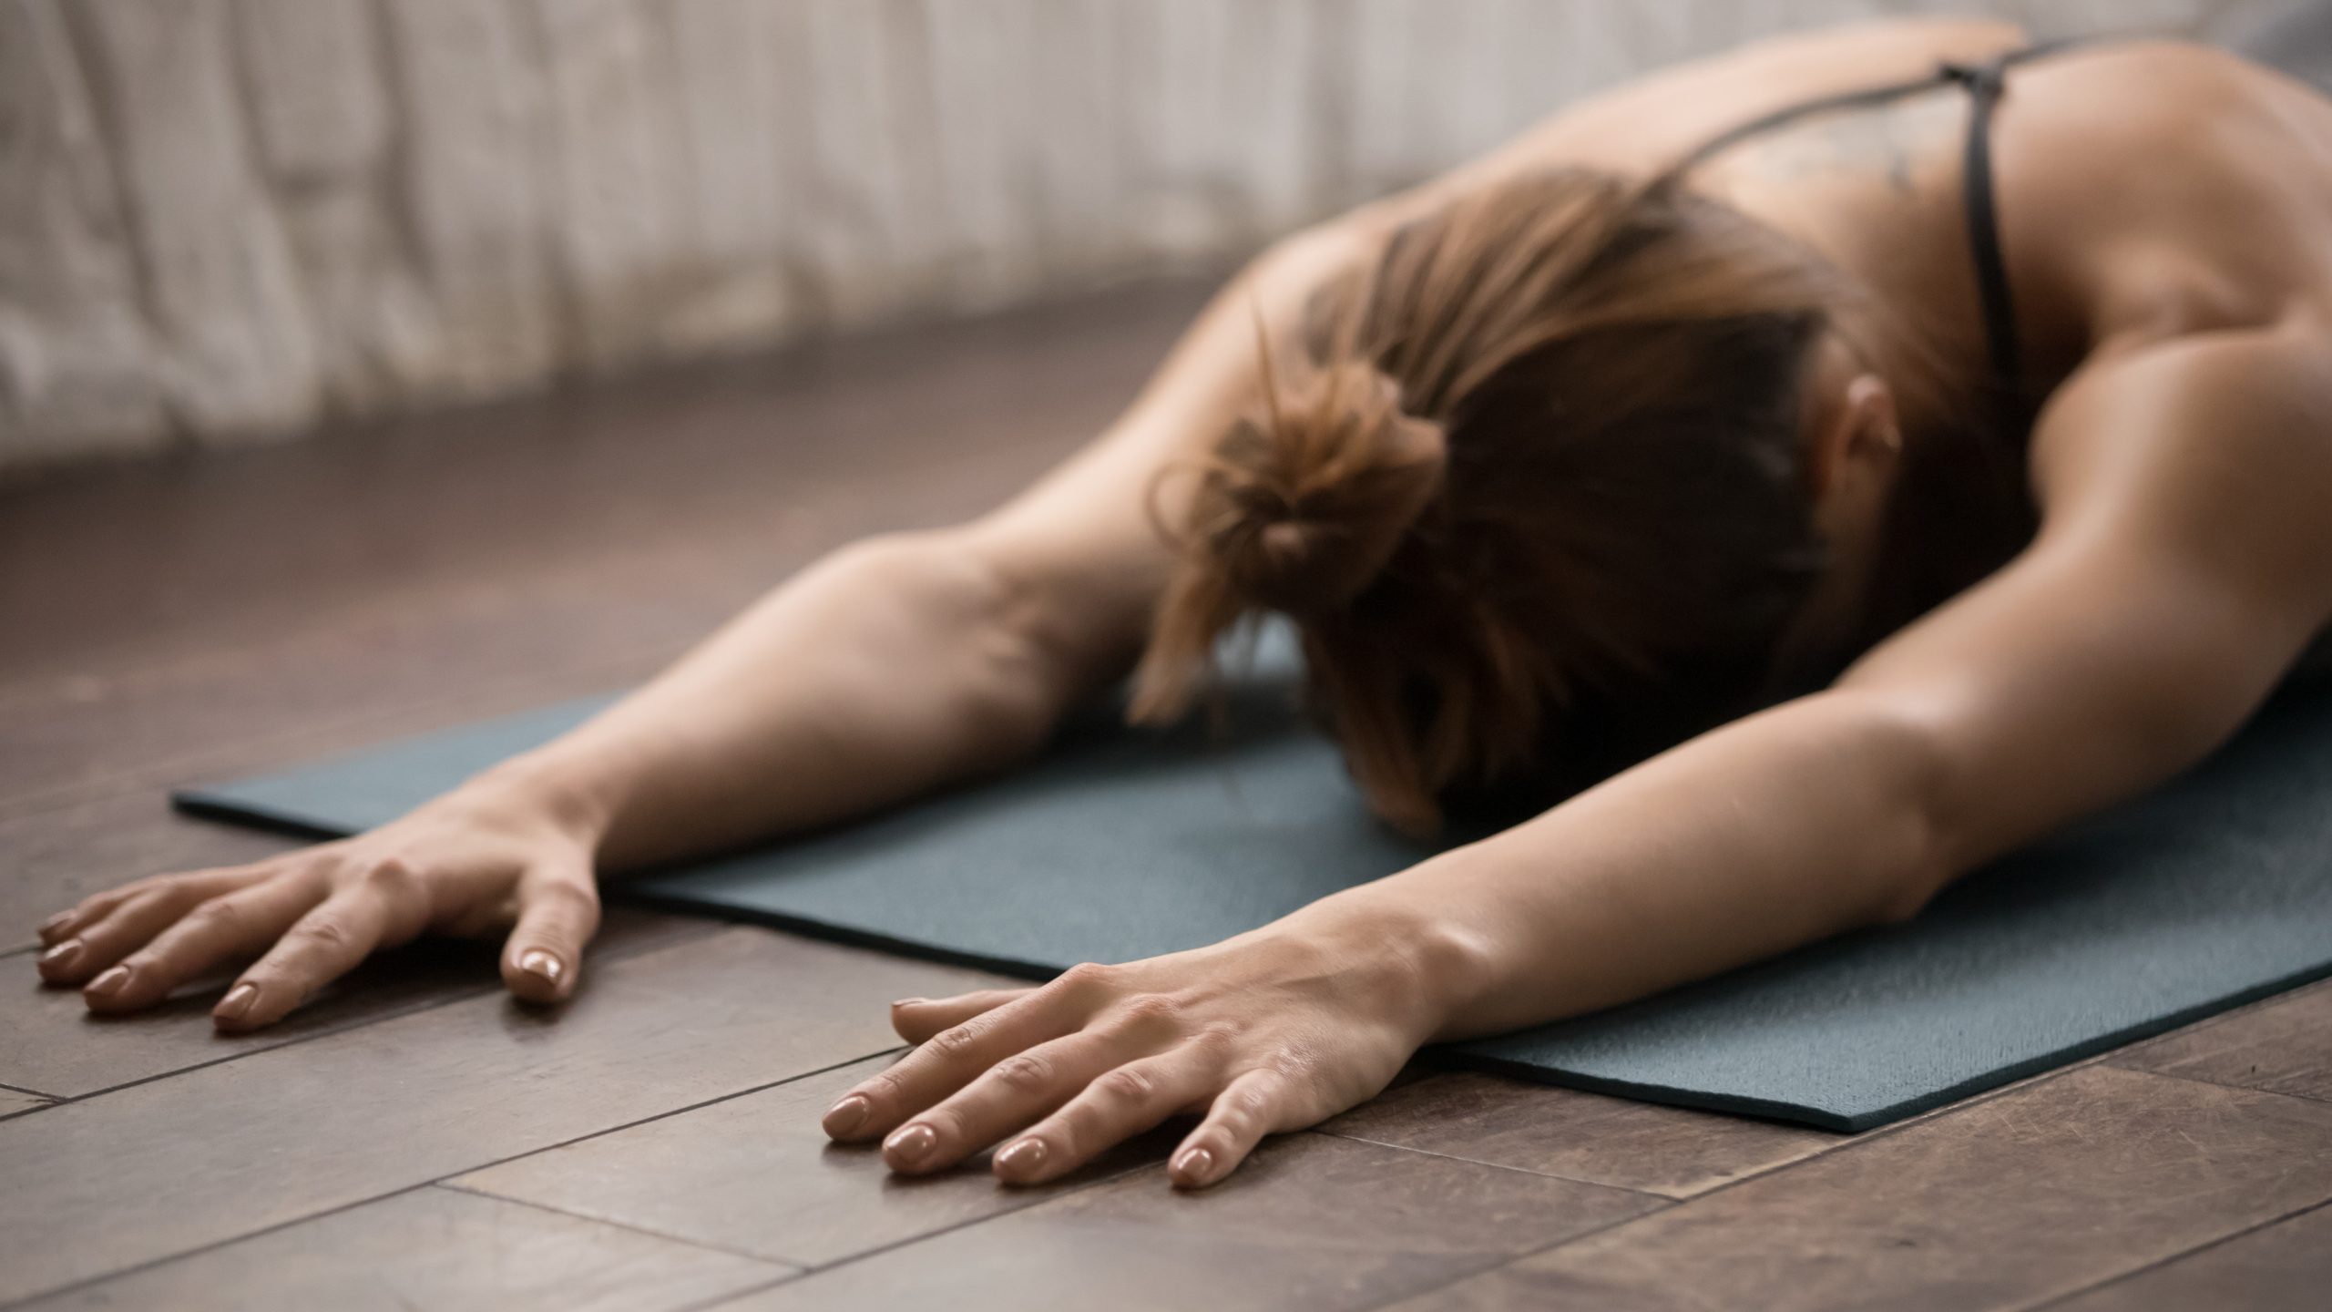
<svg viewBox="0 0 2332 1312"><path fill-rule="evenodd" d="M1520 168L1651 173L1782 107L2027 44L1992 21L1758 42L1586 100L1385 210L1404 217ZM1740 140L1693 184L1819 250L1973 371L1987 346L1964 194L1968 112L1961 84L1938 77L1924 93ZM2015 63L1989 135L2036 390L2092 355L2332 310L2332 100L2313 89L2199 44L2099 37Z"/></svg>

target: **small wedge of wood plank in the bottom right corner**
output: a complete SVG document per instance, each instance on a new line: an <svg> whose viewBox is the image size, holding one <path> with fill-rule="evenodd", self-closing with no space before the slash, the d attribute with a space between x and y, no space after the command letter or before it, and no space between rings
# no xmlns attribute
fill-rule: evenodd
<svg viewBox="0 0 2332 1312"><path fill-rule="evenodd" d="M2332 1207L2092 1289L2050 1312L2323 1312L2332 1303Z"/></svg>

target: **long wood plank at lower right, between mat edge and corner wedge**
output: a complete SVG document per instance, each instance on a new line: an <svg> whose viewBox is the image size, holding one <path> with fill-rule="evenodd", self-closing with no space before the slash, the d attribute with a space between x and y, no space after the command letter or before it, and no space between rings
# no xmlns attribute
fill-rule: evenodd
<svg viewBox="0 0 2332 1312"><path fill-rule="evenodd" d="M1402 1307L2027 1307L2325 1198L2332 1107L2099 1065Z"/></svg>

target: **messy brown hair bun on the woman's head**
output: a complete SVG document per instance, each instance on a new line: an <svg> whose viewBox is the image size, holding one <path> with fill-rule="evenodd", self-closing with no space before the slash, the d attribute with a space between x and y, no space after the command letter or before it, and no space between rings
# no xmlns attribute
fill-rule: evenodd
<svg viewBox="0 0 2332 1312"><path fill-rule="evenodd" d="M1448 437L1390 376L1336 362L1215 451L1194 523L1250 607L1318 614L1357 598L1441 490Z"/></svg>

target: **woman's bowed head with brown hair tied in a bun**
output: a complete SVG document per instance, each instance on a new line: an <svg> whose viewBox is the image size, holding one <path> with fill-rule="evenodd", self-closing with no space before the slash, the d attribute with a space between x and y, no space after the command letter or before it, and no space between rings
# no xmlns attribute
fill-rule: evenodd
<svg viewBox="0 0 2332 1312"><path fill-rule="evenodd" d="M1541 173L1416 219L1262 343L1264 404L1168 525L1133 714L1178 714L1224 628L1285 612L1371 805L1430 826L1772 696L1824 572L1821 444L1887 420L1868 383L1810 402L1840 294L1672 182Z"/></svg>

